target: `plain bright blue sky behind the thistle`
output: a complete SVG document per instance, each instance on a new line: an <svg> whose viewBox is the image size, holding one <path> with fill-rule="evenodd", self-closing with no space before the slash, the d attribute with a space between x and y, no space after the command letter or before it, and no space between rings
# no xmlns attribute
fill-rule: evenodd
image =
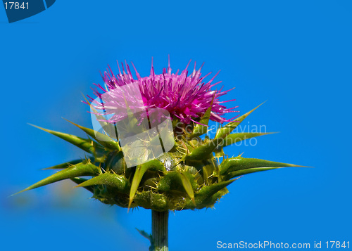
<svg viewBox="0 0 352 251"><path fill-rule="evenodd" d="M229 155L313 166L250 174L216 210L170 214L170 250L216 242L314 243L351 238L351 1L68 1L8 24L0 7L1 250L147 250L151 212L108 207L69 181L8 198L82 151L27 123L84 136L80 101L99 71L131 60L148 75L205 62L223 100L279 134ZM352 244L352 243L351 243Z"/></svg>

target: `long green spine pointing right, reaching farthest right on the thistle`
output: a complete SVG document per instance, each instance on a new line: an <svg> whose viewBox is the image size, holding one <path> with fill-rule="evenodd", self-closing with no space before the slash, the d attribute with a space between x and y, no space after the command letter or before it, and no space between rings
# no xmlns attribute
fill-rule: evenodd
<svg viewBox="0 0 352 251"><path fill-rule="evenodd" d="M302 167L299 165L287 164L282 162L273 162L269 160L260 160L253 158L244 158L241 156L231 157L222 161L220 165L220 175L234 171L251 169L256 167Z"/></svg>

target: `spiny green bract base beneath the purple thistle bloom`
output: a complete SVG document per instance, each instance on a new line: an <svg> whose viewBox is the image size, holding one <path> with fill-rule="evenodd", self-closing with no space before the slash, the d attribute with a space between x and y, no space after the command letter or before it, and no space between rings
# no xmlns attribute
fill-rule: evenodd
<svg viewBox="0 0 352 251"><path fill-rule="evenodd" d="M177 120L174 120L174 148L157 159L131 168L126 167L119 143L107 135L77 124L89 139L38 127L81 148L89 153L89 157L49 167L63 170L23 191L71 179L77 187L91 191L93 198L109 205L144 207L159 212L213 207L228 193L226 187L239 176L279 167L298 167L241 156L228 158L224 154L223 148L232 143L268 134L232 134L253 110L218 129L214 139L200 137L207 132L205 125L209 121L210 108L199 120L200 124L191 128L176 129ZM106 141L101 140L103 137ZM222 162L219 164L220 158ZM82 176L92 178L83 179Z"/></svg>

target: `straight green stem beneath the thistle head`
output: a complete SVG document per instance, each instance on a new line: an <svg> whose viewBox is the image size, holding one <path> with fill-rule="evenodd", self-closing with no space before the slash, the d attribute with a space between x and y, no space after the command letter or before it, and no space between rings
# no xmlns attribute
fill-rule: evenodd
<svg viewBox="0 0 352 251"><path fill-rule="evenodd" d="M151 236L154 251L168 251L168 219L169 212L151 211Z"/></svg>

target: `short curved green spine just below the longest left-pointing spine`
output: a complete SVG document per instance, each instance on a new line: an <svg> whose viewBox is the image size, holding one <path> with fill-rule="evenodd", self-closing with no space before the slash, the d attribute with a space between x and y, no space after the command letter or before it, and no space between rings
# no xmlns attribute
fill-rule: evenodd
<svg viewBox="0 0 352 251"><path fill-rule="evenodd" d="M95 185L106 185L114 188L115 191L120 193L128 193L130 191L130 181L128 181L124 176L111 173L103 173L98 176L88 179L83 183L79 184L77 187L84 186L95 186Z"/></svg>

